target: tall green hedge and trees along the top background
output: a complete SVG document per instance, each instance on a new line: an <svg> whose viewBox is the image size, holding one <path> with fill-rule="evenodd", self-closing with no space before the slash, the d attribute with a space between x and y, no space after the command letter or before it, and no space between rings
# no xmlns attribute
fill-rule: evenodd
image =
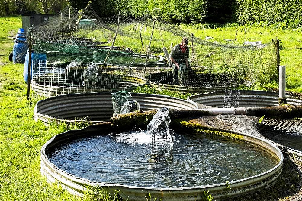
<svg viewBox="0 0 302 201"><path fill-rule="evenodd" d="M53 3L51 9L45 9L44 5ZM80 10L88 0L0 0L0 16L55 14L67 3ZM257 23L280 29L302 26L302 0L93 0L92 7L101 18L121 11L139 19L153 8L160 8L161 18L171 23Z"/></svg>

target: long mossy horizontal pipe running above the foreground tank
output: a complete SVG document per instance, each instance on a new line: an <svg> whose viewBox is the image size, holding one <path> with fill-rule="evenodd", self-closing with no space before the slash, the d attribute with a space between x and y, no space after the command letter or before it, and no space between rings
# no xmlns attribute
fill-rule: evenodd
<svg viewBox="0 0 302 201"><path fill-rule="evenodd" d="M111 125L117 128L146 127L157 110L145 112L136 111L111 117ZM292 119L302 117L302 106L272 106L272 107L237 107L237 108L208 108L196 110L170 109L171 119L181 119L197 116L216 116L219 114L250 115Z"/></svg>

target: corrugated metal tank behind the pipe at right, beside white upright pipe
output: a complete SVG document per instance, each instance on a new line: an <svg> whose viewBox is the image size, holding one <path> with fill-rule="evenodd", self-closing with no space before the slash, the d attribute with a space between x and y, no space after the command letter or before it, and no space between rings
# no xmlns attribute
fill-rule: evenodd
<svg viewBox="0 0 302 201"><path fill-rule="evenodd" d="M258 91L258 90L238 90L239 105L238 107L266 107L266 106L279 106L278 98L279 92L273 91ZM188 97L188 100L193 100L196 103L206 106L223 108L224 91L214 91L211 93L197 94ZM301 105L302 100L287 93L287 103L293 105Z"/></svg>

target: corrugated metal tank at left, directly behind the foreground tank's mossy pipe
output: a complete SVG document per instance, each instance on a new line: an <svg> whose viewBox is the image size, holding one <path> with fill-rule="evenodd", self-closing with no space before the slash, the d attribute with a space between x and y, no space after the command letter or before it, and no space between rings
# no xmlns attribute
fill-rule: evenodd
<svg viewBox="0 0 302 201"><path fill-rule="evenodd" d="M197 104L165 95L130 93L140 104L140 110L161 109L196 109ZM34 119L47 124L50 121L75 123L89 121L92 123L110 121L112 116L111 92L66 94L40 100L34 108Z"/></svg>

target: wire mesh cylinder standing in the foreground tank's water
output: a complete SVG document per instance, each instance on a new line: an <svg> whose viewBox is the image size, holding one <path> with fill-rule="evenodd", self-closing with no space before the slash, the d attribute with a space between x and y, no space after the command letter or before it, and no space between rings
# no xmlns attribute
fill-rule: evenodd
<svg viewBox="0 0 302 201"><path fill-rule="evenodd" d="M166 161L173 157L174 131L158 128L152 131L151 159Z"/></svg>

